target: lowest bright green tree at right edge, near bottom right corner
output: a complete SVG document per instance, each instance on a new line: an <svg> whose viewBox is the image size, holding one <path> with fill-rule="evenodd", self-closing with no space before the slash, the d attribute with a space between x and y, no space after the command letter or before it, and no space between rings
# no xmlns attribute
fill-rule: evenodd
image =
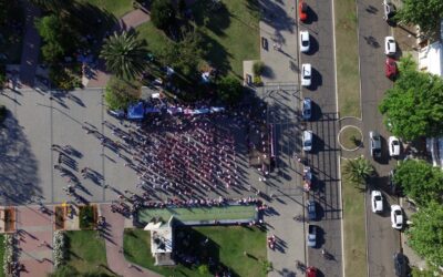
<svg viewBox="0 0 443 277"><path fill-rule="evenodd" d="M411 217L406 230L408 244L427 261L439 266L443 263L443 206L431 202Z"/></svg>

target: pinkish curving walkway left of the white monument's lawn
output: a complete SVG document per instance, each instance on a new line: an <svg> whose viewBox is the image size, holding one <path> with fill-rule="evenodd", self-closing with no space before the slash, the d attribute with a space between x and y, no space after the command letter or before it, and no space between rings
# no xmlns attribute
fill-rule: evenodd
<svg viewBox="0 0 443 277"><path fill-rule="evenodd" d="M125 218L119 213L111 212L110 204L100 205L101 215L106 218L107 223L107 238L106 242L106 259L107 266L112 271L120 276L127 277L159 277L156 273L145 268L135 266L125 260L123 255L123 230ZM151 253L146 253L151 255Z"/></svg>

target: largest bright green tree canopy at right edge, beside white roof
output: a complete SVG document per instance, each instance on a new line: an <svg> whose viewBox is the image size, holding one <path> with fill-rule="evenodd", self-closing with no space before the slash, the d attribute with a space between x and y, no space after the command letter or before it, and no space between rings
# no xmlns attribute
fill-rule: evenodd
<svg viewBox="0 0 443 277"><path fill-rule="evenodd" d="M401 59L400 76L379 105L392 134L405 141L443 134L443 80Z"/></svg>

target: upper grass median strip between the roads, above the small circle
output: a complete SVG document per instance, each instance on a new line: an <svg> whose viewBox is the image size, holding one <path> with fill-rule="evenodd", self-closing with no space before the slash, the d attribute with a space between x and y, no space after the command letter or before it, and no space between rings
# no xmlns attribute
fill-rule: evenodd
<svg viewBox="0 0 443 277"><path fill-rule="evenodd" d="M361 116L356 0L334 1L337 89L340 116Z"/></svg>

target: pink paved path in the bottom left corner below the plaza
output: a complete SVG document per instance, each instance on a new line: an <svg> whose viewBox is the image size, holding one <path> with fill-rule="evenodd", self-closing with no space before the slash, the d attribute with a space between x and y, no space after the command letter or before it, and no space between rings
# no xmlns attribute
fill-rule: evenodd
<svg viewBox="0 0 443 277"><path fill-rule="evenodd" d="M38 206L17 207L18 261L24 266L21 277L44 277L52 271L52 217Z"/></svg>

